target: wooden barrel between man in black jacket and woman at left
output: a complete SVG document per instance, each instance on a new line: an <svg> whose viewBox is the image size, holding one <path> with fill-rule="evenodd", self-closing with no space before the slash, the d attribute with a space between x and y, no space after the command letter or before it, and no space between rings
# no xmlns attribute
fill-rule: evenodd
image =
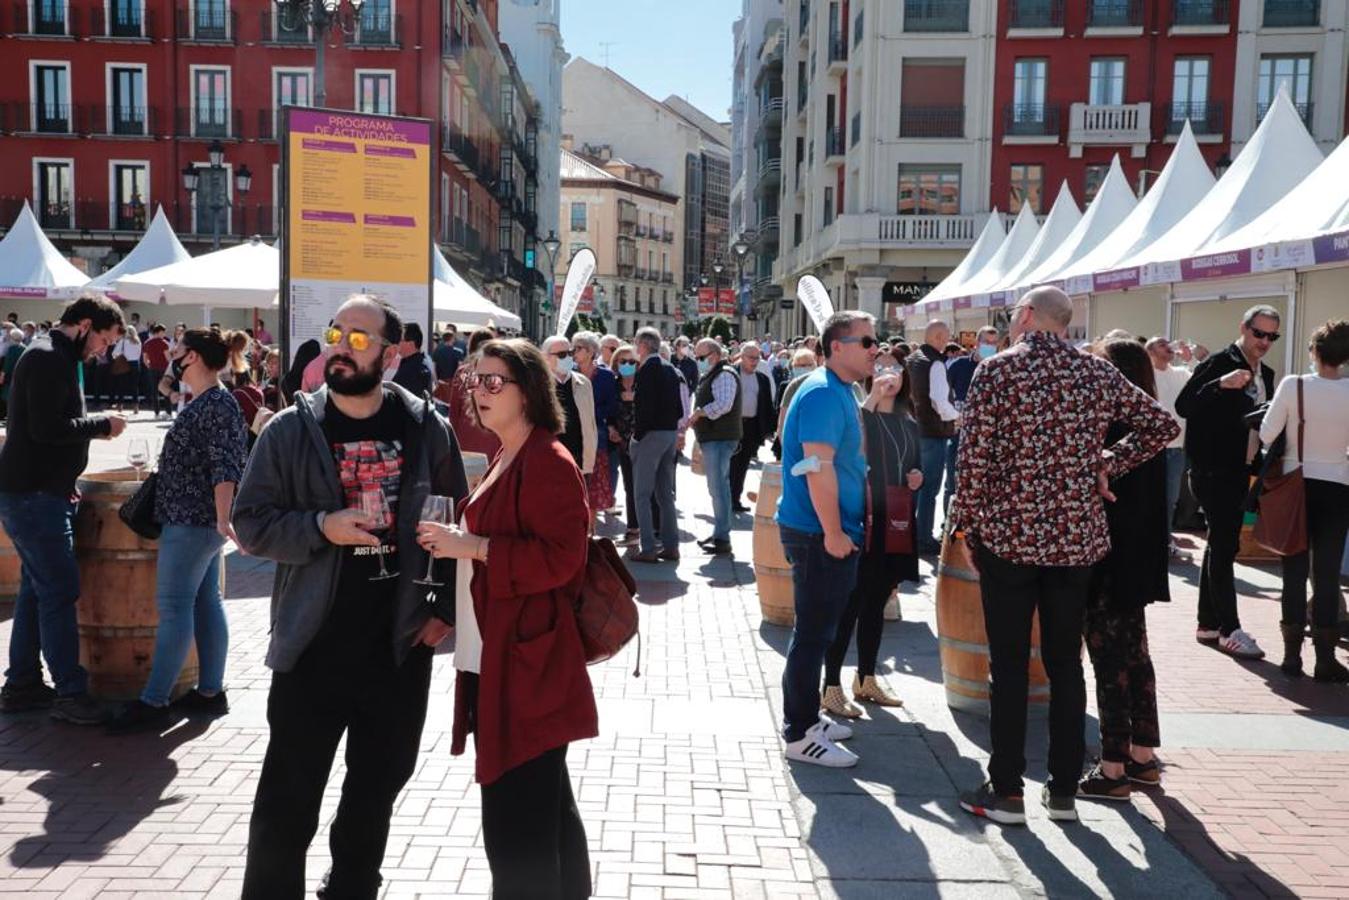
<svg viewBox="0 0 1349 900"><path fill-rule="evenodd" d="M89 694L103 700L140 696L155 654L159 548L117 518L117 509L136 487L136 474L131 471L86 474L80 479L74 525L80 564L80 602L76 604L80 663L89 671ZM174 683L173 696L196 683L197 648L193 645Z"/></svg>

